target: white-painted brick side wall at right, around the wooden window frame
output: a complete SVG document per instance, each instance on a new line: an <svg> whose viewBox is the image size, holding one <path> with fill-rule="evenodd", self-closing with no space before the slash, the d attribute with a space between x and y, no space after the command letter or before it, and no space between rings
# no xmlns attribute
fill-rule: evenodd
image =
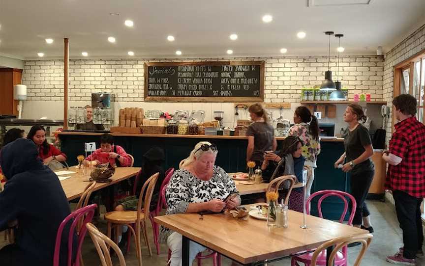
<svg viewBox="0 0 425 266"><path fill-rule="evenodd" d="M383 98L388 102L388 106L393 106L394 92L394 66L412 55L425 50L425 25L415 30L409 37L397 44L386 54L383 73ZM392 110L392 108L391 108ZM392 134L392 115L387 122L387 144Z"/></svg>

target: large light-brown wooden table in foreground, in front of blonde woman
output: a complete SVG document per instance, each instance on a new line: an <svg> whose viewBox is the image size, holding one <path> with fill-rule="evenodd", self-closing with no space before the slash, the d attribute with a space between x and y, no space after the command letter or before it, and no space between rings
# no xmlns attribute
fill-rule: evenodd
<svg viewBox="0 0 425 266"><path fill-rule="evenodd" d="M154 221L182 234L182 265L188 266L189 240L217 251L243 265L279 260L313 249L338 238L367 231L330 220L307 215L307 229L300 228L303 213L289 211L288 228L268 228L266 221L249 217L237 220L223 213L203 215L179 213L156 216ZM331 251L332 249L328 250Z"/></svg>

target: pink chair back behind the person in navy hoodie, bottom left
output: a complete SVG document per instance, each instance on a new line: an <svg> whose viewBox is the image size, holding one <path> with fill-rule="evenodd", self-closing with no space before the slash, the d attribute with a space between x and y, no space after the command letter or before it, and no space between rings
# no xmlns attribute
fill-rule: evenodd
<svg viewBox="0 0 425 266"><path fill-rule="evenodd" d="M78 209L72 213L70 213L66 218L61 222L61 225L59 226L58 233L56 234L56 243L55 243L55 254L53 255L53 266L59 266L59 254L61 253L61 239L62 239L62 232L63 228L68 224L70 220L72 220L72 224L69 227L69 233L68 233L68 259L67 259L67 266L79 266L80 265L80 256L81 256L81 246L83 244L84 237L87 233L87 227L86 224L91 222L91 219L94 215L94 210L97 208L96 204L91 204L89 206L83 207L81 209ZM77 254L75 256L75 262L72 264L72 246L73 246L73 237L74 237L74 230L77 227L77 224L79 221L83 219L83 224L80 228L80 230L77 232L78 239L77 239ZM66 237L66 236L65 236Z"/></svg>

